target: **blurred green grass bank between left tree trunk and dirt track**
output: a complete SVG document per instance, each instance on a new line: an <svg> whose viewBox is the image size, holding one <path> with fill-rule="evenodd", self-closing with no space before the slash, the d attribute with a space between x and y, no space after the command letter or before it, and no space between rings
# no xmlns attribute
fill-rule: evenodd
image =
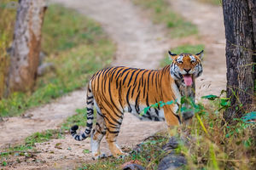
<svg viewBox="0 0 256 170"><path fill-rule="evenodd" d="M54 64L38 77L35 91L14 93L0 101L0 116L17 116L84 87L89 77L110 64L115 46L99 24L61 6L49 6L43 28L45 62Z"/></svg>

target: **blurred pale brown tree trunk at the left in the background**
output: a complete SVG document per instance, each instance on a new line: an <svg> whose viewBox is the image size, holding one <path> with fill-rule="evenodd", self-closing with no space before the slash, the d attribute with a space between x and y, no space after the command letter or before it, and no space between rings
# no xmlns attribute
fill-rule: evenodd
<svg viewBox="0 0 256 170"><path fill-rule="evenodd" d="M20 0L10 52L8 91L27 91L37 78L45 0Z"/></svg>

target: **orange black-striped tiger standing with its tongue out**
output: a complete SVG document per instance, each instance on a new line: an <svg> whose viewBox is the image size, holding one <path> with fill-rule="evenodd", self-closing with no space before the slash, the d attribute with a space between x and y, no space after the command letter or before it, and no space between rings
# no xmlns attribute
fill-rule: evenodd
<svg viewBox="0 0 256 170"><path fill-rule="evenodd" d="M130 112L141 120L166 121L167 127L175 127L194 116L192 111L177 114L182 96L195 100L195 78L202 73L201 57L198 54L173 54L168 51L172 64L160 70L137 69L126 66L113 66L97 71L87 87L87 122L84 133L77 133L74 125L70 133L76 140L90 136L90 149L93 159L101 158L100 143L106 135L108 148L114 157L125 156L116 139L119 135L124 112ZM176 100L172 105L143 108L159 101ZM94 106L96 124L93 127ZM181 117L179 116L181 115ZM91 133L91 135L90 135Z"/></svg>

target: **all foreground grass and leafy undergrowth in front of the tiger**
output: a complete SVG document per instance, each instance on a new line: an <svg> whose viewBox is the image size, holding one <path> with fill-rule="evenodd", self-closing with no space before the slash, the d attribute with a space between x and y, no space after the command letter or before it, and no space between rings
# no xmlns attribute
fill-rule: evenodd
<svg viewBox="0 0 256 170"><path fill-rule="evenodd" d="M202 99L211 99L212 102L202 105L195 104L192 99L182 99L182 103L189 100L191 108L182 107L179 111L193 110L195 116L189 126L180 127L179 132L182 133L176 134L189 141L189 144L179 144L176 149L177 154L185 156L188 162L181 169L253 169L256 166L256 123L253 121L256 112L227 124L223 114L230 106L229 100L215 95ZM159 102L151 107L164 105L169 104ZM167 133L162 133L157 138L144 141L135 150L130 150L130 156L125 159L108 157L84 164L79 169L120 169L125 162L135 160L146 169L156 169L166 156L162 146L168 141L167 137Z"/></svg>

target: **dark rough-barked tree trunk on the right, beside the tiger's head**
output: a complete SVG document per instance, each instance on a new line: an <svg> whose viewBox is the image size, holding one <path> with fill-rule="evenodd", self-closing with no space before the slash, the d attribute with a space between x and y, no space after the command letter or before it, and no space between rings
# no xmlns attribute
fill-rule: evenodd
<svg viewBox="0 0 256 170"><path fill-rule="evenodd" d="M227 97L230 122L253 110L255 86L256 0L223 0L226 37ZM253 72L254 70L254 72Z"/></svg>

